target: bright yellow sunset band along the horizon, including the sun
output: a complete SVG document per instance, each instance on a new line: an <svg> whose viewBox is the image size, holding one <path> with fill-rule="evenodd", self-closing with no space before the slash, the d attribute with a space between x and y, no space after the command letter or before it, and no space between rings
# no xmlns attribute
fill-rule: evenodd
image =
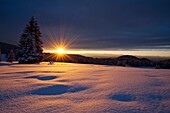
<svg viewBox="0 0 170 113"><path fill-rule="evenodd" d="M61 48L57 50L44 50L47 53L60 53L60 54L81 54L87 56L114 56L114 55L137 55L137 56L161 56L161 57L169 57L170 53L166 50L131 50L131 51L121 51L121 50L63 50Z"/></svg>

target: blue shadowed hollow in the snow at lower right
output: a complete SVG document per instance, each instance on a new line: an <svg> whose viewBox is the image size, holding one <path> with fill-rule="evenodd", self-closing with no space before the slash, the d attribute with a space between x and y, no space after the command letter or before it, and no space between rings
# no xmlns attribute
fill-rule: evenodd
<svg viewBox="0 0 170 113"><path fill-rule="evenodd" d="M111 96L112 100L122 101L122 102L130 102L134 101L134 98L130 94L115 94Z"/></svg>

